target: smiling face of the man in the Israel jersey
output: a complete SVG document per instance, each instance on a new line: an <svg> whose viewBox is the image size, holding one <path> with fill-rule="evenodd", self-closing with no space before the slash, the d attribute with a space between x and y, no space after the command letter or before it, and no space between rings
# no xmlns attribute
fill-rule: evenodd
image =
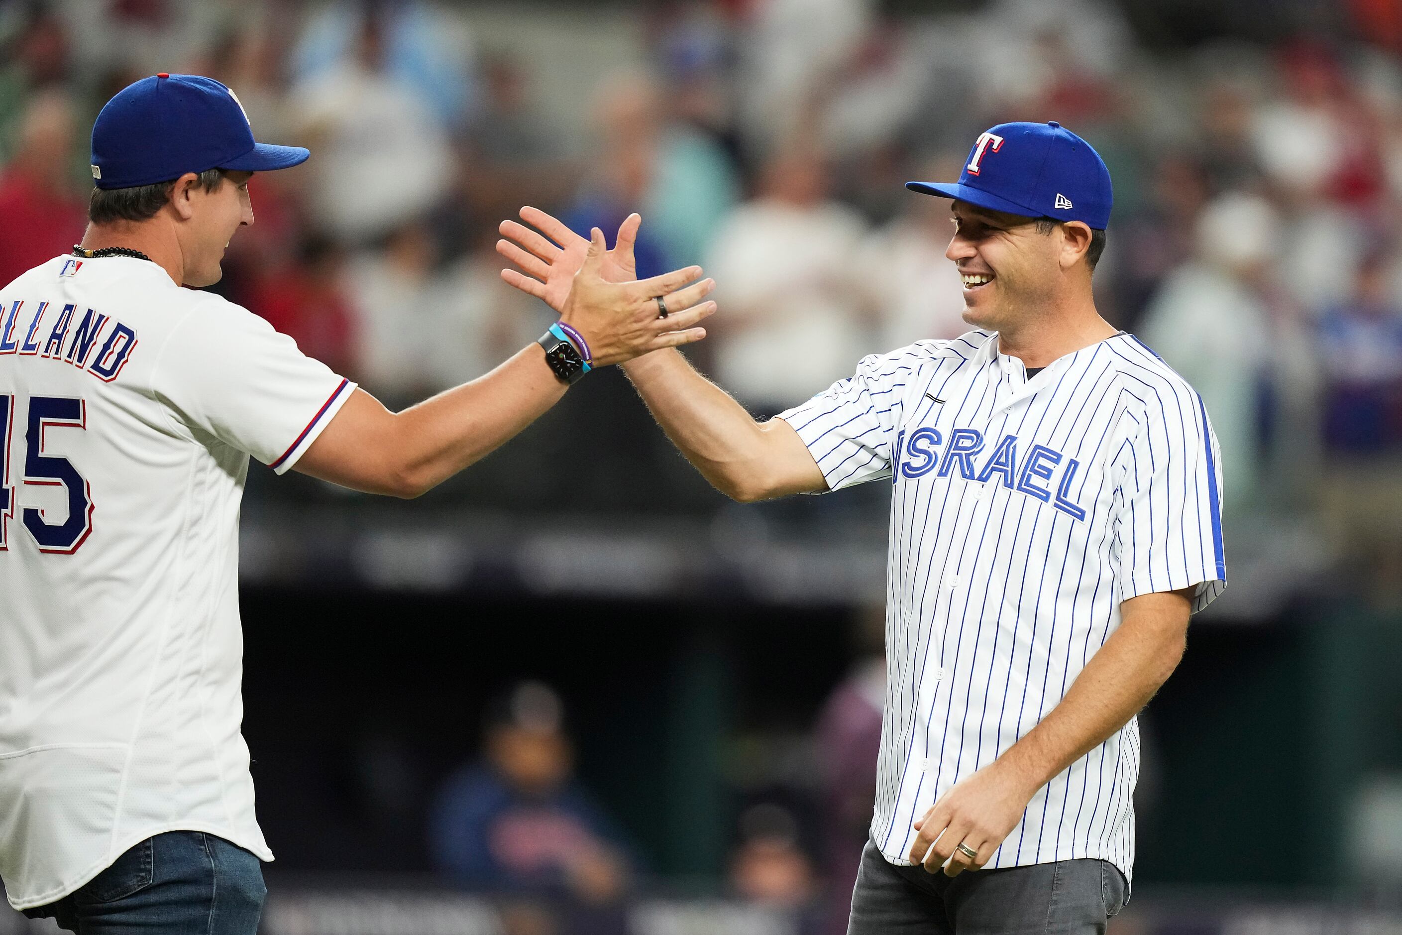
<svg viewBox="0 0 1402 935"><path fill-rule="evenodd" d="M1037 231L1035 217L1007 214L956 200L955 236L945 257L963 279L963 320L1011 331L1035 317L1061 287L1061 237Z"/></svg>

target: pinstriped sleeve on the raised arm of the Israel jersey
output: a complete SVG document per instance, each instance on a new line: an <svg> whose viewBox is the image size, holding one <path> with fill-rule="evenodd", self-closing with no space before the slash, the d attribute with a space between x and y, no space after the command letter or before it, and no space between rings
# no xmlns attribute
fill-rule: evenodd
<svg viewBox="0 0 1402 935"><path fill-rule="evenodd" d="M890 477L892 433L900 418L896 409L911 371L911 364L903 366L896 357L864 357L855 374L775 416L803 439L827 489Z"/></svg>

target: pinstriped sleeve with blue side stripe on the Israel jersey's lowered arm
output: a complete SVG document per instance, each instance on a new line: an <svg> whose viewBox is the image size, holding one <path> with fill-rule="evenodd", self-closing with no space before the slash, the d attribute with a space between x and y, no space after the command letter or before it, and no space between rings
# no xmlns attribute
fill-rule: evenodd
<svg viewBox="0 0 1402 935"><path fill-rule="evenodd" d="M1202 398L1185 390L1155 401L1123 451L1122 600L1193 587L1196 614L1227 586L1221 451Z"/></svg>

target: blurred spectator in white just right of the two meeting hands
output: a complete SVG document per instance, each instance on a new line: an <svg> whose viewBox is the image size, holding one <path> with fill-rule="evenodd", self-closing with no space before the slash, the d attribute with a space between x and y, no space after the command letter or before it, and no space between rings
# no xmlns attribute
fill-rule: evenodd
<svg viewBox="0 0 1402 935"><path fill-rule="evenodd" d="M742 402L778 412L851 373L873 348L859 308L862 219L829 198L827 167L792 146L764 170L763 193L716 231L716 376Z"/></svg>

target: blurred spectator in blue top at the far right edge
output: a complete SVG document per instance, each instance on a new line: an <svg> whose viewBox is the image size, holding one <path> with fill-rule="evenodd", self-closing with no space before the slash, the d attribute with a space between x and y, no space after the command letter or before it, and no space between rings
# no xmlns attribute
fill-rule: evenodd
<svg viewBox="0 0 1402 935"><path fill-rule="evenodd" d="M1325 446L1338 454L1402 449L1402 308L1389 289L1389 259L1368 255L1352 294L1319 317Z"/></svg>

